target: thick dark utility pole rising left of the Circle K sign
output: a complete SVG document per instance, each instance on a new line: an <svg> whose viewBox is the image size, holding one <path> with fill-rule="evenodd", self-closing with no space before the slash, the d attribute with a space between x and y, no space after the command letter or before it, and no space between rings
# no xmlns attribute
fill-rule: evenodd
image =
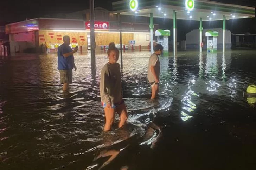
<svg viewBox="0 0 256 170"><path fill-rule="evenodd" d="M94 33L94 0L90 0L90 30L91 30L91 67L95 68L95 33Z"/></svg>

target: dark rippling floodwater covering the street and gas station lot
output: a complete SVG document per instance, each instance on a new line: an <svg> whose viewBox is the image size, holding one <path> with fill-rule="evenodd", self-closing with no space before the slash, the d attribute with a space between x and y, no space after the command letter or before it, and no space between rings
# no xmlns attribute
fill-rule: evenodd
<svg viewBox="0 0 256 170"><path fill-rule="evenodd" d="M56 54L0 57L0 169L99 169L105 160L94 159L109 146L123 150L103 169L255 167L256 107L243 98L256 83L255 51L178 54L160 57L160 96L150 101L149 52L124 53L129 124L107 134L99 97L105 53L97 54L95 70L90 54L75 56L68 95ZM162 131L154 147L156 130L146 142L132 139L147 135L151 122ZM118 146L121 141L132 144Z"/></svg>

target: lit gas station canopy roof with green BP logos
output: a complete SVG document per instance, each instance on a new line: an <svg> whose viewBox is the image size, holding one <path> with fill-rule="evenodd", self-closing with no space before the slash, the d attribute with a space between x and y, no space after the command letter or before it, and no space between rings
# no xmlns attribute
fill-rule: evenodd
<svg viewBox="0 0 256 170"><path fill-rule="evenodd" d="M226 19L251 18L255 15L253 7L223 4L219 2L206 0L164 0L162 2L156 0L134 0L136 7L131 10L129 0L123 0L112 3L114 13L121 15L133 16L150 16L153 13L154 18L169 18L173 19L173 11L177 13L177 19L181 20L196 20L202 18L203 21L223 20L223 15ZM136 4L137 3L137 4ZM186 3L193 5L193 10L186 7ZM189 6L189 5L188 5Z"/></svg>

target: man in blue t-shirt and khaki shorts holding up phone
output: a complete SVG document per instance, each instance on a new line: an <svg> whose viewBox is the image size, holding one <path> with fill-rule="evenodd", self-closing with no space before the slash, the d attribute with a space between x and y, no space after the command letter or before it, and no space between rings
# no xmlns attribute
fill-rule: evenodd
<svg viewBox="0 0 256 170"><path fill-rule="evenodd" d="M72 83L74 69L76 66L74 62L74 53L77 52L77 47L72 50L70 48L70 37L63 36L63 44L58 47L58 70L60 73L60 83L63 84L63 91L69 90L69 84Z"/></svg>

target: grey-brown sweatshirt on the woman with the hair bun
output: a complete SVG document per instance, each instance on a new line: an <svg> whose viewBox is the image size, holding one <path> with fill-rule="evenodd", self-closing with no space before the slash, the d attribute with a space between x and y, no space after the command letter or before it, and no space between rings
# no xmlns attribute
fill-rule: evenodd
<svg viewBox="0 0 256 170"><path fill-rule="evenodd" d="M101 70L101 102L117 104L122 101L121 72L118 63L107 63Z"/></svg>

